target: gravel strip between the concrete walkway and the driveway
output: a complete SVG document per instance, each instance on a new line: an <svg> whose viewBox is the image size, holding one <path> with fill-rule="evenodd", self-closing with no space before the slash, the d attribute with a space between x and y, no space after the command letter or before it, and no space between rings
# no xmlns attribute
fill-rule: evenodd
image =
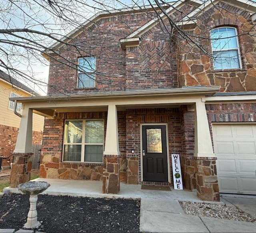
<svg viewBox="0 0 256 233"><path fill-rule="evenodd" d="M179 201L185 214L202 217L215 217L256 223L256 219L240 208L230 205L218 205L192 201Z"/></svg>

